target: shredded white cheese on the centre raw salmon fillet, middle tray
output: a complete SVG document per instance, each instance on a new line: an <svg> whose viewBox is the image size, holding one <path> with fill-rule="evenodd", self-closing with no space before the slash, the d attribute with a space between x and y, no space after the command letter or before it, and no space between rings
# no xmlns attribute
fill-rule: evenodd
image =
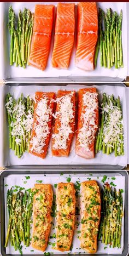
<svg viewBox="0 0 129 256"><path fill-rule="evenodd" d="M58 98L57 104L59 104L58 112L55 114L55 118L59 119L60 127L58 127L58 132L52 135L54 139L54 149L67 149L67 142L69 140L69 135L73 133L71 123L74 121L74 109L72 103L72 96L74 92L71 94L66 94L61 98Z"/></svg>

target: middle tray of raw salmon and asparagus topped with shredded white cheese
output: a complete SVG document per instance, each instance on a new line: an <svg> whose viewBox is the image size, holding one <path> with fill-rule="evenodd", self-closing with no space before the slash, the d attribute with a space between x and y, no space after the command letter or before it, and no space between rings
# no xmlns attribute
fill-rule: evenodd
<svg viewBox="0 0 129 256"><path fill-rule="evenodd" d="M1 166L126 166L125 87L12 85L1 96Z"/></svg>

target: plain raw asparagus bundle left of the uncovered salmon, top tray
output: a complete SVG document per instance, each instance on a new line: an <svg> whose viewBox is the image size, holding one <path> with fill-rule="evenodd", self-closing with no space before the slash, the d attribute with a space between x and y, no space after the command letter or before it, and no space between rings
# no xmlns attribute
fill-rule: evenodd
<svg viewBox="0 0 129 256"><path fill-rule="evenodd" d="M10 65L26 67L29 65L31 39L33 33L34 14L29 9L19 10L16 19L13 8L9 7L9 32L10 32Z"/></svg>

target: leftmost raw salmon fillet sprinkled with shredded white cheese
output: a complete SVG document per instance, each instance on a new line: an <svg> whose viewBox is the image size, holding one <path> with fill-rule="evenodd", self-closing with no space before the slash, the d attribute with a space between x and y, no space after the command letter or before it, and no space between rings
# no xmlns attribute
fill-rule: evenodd
<svg viewBox="0 0 129 256"><path fill-rule="evenodd" d="M48 151L55 93L36 92L29 152L45 158Z"/></svg>

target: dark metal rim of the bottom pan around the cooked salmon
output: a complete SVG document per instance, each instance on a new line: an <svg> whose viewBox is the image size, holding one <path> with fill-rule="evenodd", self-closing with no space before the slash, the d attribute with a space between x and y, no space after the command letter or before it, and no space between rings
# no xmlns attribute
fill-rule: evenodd
<svg viewBox="0 0 129 256"><path fill-rule="evenodd" d="M12 254L6 254L5 253L5 248L4 248L4 242L5 242L5 208L4 208L4 178L8 177L8 175L10 174L22 174L22 175L31 175L31 174L45 174L47 171L47 174L53 174L53 172L51 172L51 169L49 170L4 170L1 173L1 177L0 177L0 185L1 185L1 197L0 197L0 205L1 205L1 255L5 256L5 255L12 255ZM54 174L59 174L59 173L77 173L78 174L78 169L76 170L72 170L72 169L68 169L67 171L65 169L60 169L60 170L55 170ZM92 174L92 175L98 175L98 174L102 174L104 175L105 173L103 172L103 170L101 171L97 171L97 170L93 170L90 171L90 173L88 171L86 171L85 169L81 170L81 173L79 172L79 174ZM123 176L125 177L125 215L124 215L124 250L122 252L122 256L127 256L128 255L128 173L126 171L120 171L120 170L116 170L116 171L109 171L107 172L107 176L115 176L115 175L119 175L119 176ZM16 255L16 254L15 254ZM23 254L23 256L26 254ZM31 256L31 254L27 254L29 256ZM40 254L37 254L40 255ZM58 255L62 255L62 254L58 254ZM65 254L66 255L66 254ZM73 255L71 253L71 255ZM95 254L87 254L87 255L95 255ZM101 254L97 254L97 255L107 255L106 251L105 253L101 253ZM108 255L118 255L118 254L108 254Z"/></svg>

